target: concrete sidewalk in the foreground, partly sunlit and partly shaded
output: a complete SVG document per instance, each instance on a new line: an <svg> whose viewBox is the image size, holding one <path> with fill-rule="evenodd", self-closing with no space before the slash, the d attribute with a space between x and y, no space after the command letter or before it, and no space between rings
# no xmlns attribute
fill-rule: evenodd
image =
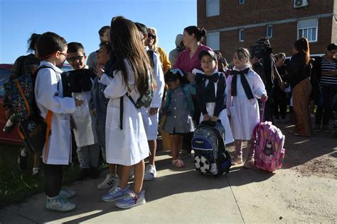
<svg viewBox="0 0 337 224"><path fill-rule="evenodd" d="M101 201L107 191L96 189L104 178L67 186L75 211L46 211L46 196L0 210L0 223L275 223L336 222L336 179L302 177L293 169L275 174L232 167L228 176L203 176L187 166L176 169L166 152L158 152L158 175L144 182L144 206L122 210Z"/></svg>

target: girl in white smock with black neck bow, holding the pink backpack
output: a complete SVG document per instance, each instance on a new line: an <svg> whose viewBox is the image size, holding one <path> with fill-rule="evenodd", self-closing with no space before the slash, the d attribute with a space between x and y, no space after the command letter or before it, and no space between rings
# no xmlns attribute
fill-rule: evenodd
<svg viewBox="0 0 337 224"><path fill-rule="evenodd" d="M242 140L248 140L247 158L243 167L250 169L254 164L252 131L260 122L257 98L265 102L268 97L262 79L251 69L250 52L247 49L235 51L233 64L235 67L227 79L227 108L235 139L235 157L232 164L242 164Z"/></svg>

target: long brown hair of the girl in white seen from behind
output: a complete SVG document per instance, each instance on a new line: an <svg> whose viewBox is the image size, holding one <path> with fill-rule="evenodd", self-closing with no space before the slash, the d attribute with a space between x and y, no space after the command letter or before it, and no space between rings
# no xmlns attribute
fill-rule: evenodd
<svg viewBox="0 0 337 224"><path fill-rule="evenodd" d="M141 38L136 25L122 16L112 18L110 27L110 43L114 51L115 63L117 69L122 72L124 84L128 91L127 67L124 59L129 62L129 66L134 72L134 82L137 86L139 94L146 92L148 86L149 76L147 72L151 72L153 76L153 69L149 57L144 50L144 45L141 43ZM154 78L152 80L155 80Z"/></svg>

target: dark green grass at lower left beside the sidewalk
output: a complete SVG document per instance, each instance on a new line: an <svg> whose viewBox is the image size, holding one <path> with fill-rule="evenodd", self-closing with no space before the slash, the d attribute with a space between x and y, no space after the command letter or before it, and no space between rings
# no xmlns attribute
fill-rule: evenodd
<svg viewBox="0 0 337 224"><path fill-rule="evenodd" d="M22 172L16 163L21 147L0 145L0 206L22 201L44 191L44 174L32 176L33 156L29 156L28 169ZM73 152L73 154L76 152ZM102 165L100 169L105 169ZM77 157L63 169L63 183L76 181L79 171Z"/></svg>

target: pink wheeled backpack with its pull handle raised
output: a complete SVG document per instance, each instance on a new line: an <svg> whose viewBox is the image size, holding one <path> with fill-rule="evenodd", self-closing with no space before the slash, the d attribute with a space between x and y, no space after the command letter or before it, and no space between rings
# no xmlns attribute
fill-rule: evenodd
<svg viewBox="0 0 337 224"><path fill-rule="evenodd" d="M255 166L273 172L280 169L284 162L284 139L281 130L270 121L264 121L264 105L262 103L262 118L253 130L255 139Z"/></svg>

